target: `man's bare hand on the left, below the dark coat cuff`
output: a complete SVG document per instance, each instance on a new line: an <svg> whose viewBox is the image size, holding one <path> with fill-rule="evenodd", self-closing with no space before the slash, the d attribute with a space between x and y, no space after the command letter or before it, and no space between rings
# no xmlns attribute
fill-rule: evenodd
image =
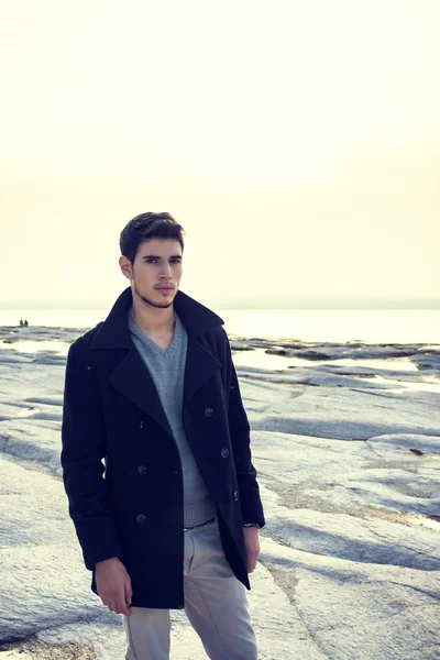
<svg viewBox="0 0 440 660"><path fill-rule="evenodd" d="M130 575L118 557L99 561L96 564L96 583L98 594L110 612L131 616L130 608L133 595Z"/></svg>

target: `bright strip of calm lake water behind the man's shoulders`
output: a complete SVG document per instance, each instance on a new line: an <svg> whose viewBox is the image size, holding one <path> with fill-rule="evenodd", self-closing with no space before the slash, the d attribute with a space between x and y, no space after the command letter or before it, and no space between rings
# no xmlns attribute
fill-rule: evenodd
<svg viewBox="0 0 440 660"><path fill-rule="evenodd" d="M302 341L440 343L439 309L219 309L229 334ZM0 310L0 326L92 328L109 309Z"/></svg>

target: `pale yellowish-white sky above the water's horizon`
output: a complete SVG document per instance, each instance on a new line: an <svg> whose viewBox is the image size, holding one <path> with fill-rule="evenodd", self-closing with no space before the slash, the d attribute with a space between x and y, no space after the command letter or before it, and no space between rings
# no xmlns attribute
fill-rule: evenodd
<svg viewBox="0 0 440 660"><path fill-rule="evenodd" d="M439 34L438 0L1 0L0 302L112 301L144 211L205 304L438 297Z"/></svg>

